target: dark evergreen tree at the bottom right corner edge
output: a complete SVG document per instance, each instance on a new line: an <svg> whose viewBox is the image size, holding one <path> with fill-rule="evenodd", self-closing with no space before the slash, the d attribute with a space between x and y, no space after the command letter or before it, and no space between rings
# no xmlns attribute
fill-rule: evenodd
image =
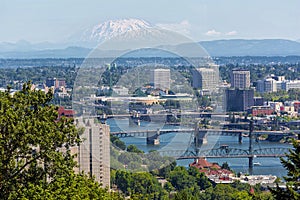
<svg viewBox="0 0 300 200"><path fill-rule="evenodd" d="M271 189L275 199L300 199L300 144L293 140L293 149L286 155L287 159L280 158L282 165L288 170L286 189L277 185L276 189Z"/></svg>

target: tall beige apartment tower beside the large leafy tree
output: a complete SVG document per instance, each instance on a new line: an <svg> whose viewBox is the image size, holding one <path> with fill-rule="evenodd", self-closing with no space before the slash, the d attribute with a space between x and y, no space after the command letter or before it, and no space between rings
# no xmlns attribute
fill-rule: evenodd
<svg viewBox="0 0 300 200"><path fill-rule="evenodd" d="M110 129L94 119L76 118L78 127L84 127L83 142L78 147L79 171L95 176L103 187L110 187Z"/></svg>

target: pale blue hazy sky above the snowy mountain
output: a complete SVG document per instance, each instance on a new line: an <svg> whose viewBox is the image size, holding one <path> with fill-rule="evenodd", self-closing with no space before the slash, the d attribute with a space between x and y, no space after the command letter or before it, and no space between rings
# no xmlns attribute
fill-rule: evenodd
<svg viewBox="0 0 300 200"><path fill-rule="evenodd" d="M62 42L110 19L138 18L194 40L300 39L299 0L0 0L0 42Z"/></svg>

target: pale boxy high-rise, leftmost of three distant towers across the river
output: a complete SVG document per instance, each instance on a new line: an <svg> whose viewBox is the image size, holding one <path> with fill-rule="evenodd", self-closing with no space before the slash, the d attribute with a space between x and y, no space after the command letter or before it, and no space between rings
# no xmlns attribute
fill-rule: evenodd
<svg viewBox="0 0 300 200"><path fill-rule="evenodd" d="M154 88L161 90L170 89L170 69L153 69L151 70L150 82Z"/></svg>

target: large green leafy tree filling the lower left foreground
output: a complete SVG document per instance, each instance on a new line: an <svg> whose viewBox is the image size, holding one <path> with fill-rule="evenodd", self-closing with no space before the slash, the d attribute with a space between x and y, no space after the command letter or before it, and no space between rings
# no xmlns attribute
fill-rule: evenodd
<svg viewBox="0 0 300 200"><path fill-rule="evenodd" d="M51 99L30 83L14 95L0 92L1 199L105 199L98 183L74 173L78 131L72 119L57 119Z"/></svg>

